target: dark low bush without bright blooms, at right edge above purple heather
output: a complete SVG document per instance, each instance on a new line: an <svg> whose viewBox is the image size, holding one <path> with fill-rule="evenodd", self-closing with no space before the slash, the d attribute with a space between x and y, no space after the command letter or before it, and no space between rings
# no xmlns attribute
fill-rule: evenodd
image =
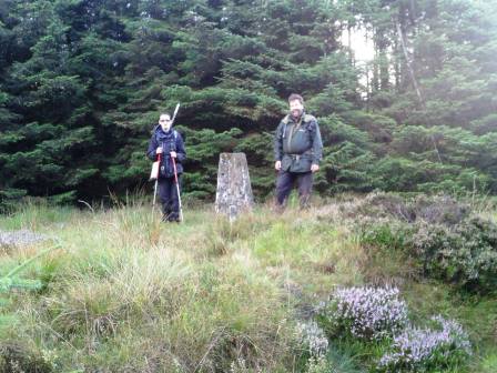
<svg viewBox="0 0 497 373"><path fill-rule="evenodd" d="M363 244L400 250L416 258L425 275L465 290L488 292L497 285L497 224L467 204L443 195L402 202L388 194L364 203L355 223Z"/></svg>

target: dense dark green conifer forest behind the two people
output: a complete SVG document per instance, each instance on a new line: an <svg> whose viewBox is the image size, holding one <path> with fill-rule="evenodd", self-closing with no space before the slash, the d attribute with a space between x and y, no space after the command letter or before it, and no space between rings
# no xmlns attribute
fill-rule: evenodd
<svg viewBox="0 0 497 373"><path fill-rule="evenodd" d="M495 194L496 56L496 0L1 0L0 203L143 188L178 102L185 192L211 198L241 151L263 198L292 92L320 121L322 194Z"/></svg>

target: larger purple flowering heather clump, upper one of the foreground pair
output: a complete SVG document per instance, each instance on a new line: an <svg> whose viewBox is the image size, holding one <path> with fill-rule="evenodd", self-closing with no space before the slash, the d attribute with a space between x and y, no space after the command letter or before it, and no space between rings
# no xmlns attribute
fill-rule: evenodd
<svg viewBox="0 0 497 373"><path fill-rule="evenodd" d="M365 340L382 340L407 324L407 305L396 288L338 289L325 316L345 333Z"/></svg>

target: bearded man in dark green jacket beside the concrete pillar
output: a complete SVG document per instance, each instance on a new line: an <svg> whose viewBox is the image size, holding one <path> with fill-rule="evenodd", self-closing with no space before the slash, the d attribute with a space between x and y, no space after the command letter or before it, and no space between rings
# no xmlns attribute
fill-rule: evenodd
<svg viewBox="0 0 497 373"><path fill-rule="evenodd" d="M304 111L300 94L288 98L290 113L280 122L274 137L276 205L284 209L293 184L298 185L301 208L307 208L313 174L320 170L323 142L316 118Z"/></svg>

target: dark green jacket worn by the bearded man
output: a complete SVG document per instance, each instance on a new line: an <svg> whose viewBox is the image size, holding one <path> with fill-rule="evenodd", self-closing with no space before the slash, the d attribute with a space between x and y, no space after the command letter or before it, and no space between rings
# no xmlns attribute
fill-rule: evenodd
<svg viewBox="0 0 497 373"><path fill-rule="evenodd" d="M274 158L290 172L310 172L313 163L320 164L323 141L317 120L305 113L300 123L290 114L283 118L274 137Z"/></svg>

